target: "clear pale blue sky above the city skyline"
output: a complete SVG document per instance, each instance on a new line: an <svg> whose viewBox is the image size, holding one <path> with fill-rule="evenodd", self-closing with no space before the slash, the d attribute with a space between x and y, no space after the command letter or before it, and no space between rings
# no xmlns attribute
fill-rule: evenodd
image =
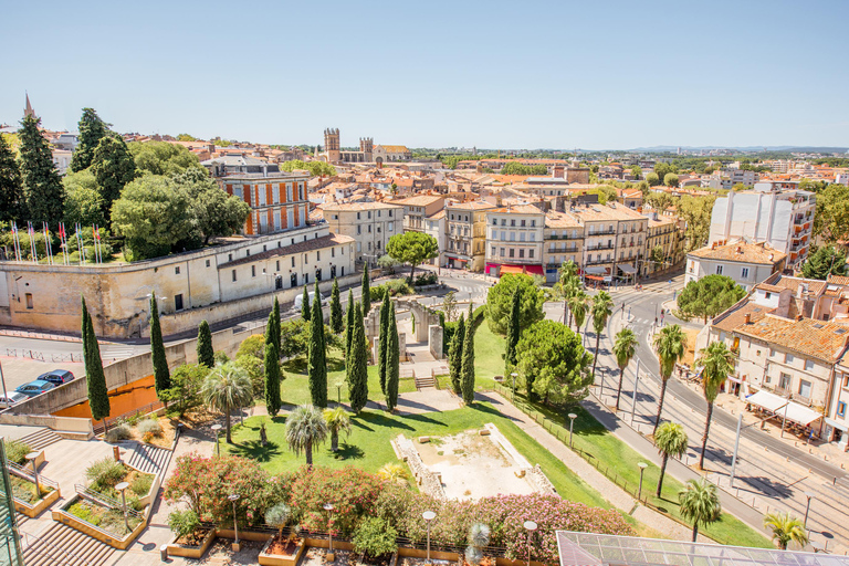
<svg viewBox="0 0 849 566"><path fill-rule="evenodd" d="M3 0L0 123L410 147L849 146L849 2Z"/></svg>

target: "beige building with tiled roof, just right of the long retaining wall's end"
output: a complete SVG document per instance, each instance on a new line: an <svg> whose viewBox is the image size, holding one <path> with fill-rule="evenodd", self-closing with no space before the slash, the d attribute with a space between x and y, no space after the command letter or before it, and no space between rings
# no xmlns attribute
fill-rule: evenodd
<svg viewBox="0 0 849 566"><path fill-rule="evenodd" d="M348 202L321 207L331 231L353 238L356 261L374 264L386 253L386 244L403 227L403 207L387 202Z"/></svg>

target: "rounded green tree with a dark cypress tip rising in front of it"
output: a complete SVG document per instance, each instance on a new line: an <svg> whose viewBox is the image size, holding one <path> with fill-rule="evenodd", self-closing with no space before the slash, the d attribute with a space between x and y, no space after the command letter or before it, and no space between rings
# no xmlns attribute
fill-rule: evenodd
<svg viewBox="0 0 849 566"><path fill-rule="evenodd" d="M507 332L510 313L513 310L513 295L516 290L520 290L522 297L520 332L545 317L543 313L545 294L534 284L533 277L524 273L507 273L502 275L486 294L486 319L490 329L495 334L504 335Z"/></svg>

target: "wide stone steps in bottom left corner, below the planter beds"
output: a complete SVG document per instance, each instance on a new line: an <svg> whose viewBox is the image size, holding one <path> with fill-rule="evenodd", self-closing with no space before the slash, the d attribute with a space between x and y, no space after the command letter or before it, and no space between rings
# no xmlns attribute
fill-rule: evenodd
<svg viewBox="0 0 849 566"><path fill-rule="evenodd" d="M61 523L25 539L27 566L104 566L115 553L112 546Z"/></svg>

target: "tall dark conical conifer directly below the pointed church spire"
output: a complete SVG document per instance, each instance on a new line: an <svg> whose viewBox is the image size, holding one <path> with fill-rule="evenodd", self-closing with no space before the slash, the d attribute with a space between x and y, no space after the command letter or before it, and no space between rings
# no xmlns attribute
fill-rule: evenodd
<svg viewBox="0 0 849 566"><path fill-rule="evenodd" d="M21 138L21 178L30 219L55 228L65 210L65 188L53 165L50 144L39 130L41 118L24 116Z"/></svg>

